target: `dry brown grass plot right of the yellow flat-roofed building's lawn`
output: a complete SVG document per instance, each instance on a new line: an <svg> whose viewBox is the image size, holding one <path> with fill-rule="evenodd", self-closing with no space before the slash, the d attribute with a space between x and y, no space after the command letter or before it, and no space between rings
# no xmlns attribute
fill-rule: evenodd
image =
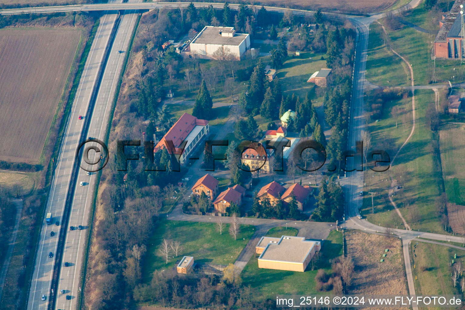
<svg viewBox="0 0 465 310"><path fill-rule="evenodd" d="M347 256L352 257L356 270L349 294L408 294L398 238L355 230L345 232L344 236ZM380 262L381 259L384 261Z"/></svg>

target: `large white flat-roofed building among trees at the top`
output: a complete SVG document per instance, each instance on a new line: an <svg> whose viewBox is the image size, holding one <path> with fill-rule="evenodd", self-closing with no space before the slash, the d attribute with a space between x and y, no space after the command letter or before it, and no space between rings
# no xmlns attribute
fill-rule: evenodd
<svg viewBox="0 0 465 310"><path fill-rule="evenodd" d="M236 33L234 27L205 26L189 44L190 54L200 58L240 60L250 49L250 35Z"/></svg>

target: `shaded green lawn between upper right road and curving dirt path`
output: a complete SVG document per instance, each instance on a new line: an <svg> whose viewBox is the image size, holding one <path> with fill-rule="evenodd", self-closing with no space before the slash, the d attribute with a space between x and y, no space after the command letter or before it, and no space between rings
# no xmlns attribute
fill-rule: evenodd
<svg viewBox="0 0 465 310"><path fill-rule="evenodd" d="M378 23L370 25L366 78L382 86L407 86L410 71L399 56L384 45L384 32Z"/></svg>

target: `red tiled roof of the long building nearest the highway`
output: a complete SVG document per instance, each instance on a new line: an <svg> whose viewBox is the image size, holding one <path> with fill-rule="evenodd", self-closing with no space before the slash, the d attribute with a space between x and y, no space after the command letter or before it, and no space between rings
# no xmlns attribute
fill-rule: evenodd
<svg viewBox="0 0 465 310"><path fill-rule="evenodd" d="M191 114L184 113L176 123L166 132L160 142L155 146L156 152L162 147L165 147L170 154L181 154L179 145L187 138L189 133L192 132L195 126L206 126L208 121L206 119L198 119Z"/></svg>

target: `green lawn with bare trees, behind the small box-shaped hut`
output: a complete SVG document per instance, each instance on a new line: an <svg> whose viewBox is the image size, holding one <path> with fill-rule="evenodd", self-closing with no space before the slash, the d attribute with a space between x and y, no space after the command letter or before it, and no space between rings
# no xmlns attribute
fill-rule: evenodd
<svg viewBox="0 0 465 310"><path fill-rule="evenodd" d="M228 233L229 224L225 225L226 228L220 235L214 219L212 223L161 220L156 226L147 242L147 253L142 267L144 282L150 281L153 270L171 269L174 263L185 255L193 256L196 262L234 263L254 233L252 225L241 225L241 232L237 240L234 240ZM170 258L168 264L158 252L163 239L179 241L183 247L182 253L178 257Z"/></svg>

